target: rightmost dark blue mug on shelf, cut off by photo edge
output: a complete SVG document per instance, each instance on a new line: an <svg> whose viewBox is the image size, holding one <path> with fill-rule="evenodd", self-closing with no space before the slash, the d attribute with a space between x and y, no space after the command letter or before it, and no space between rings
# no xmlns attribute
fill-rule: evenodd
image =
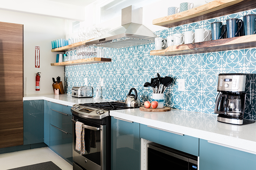
<svg viewBox="0 0 256 170"><path fill-rule="evenodd" d="M244 35L256 33L256 14L244 15Z"/></svg>

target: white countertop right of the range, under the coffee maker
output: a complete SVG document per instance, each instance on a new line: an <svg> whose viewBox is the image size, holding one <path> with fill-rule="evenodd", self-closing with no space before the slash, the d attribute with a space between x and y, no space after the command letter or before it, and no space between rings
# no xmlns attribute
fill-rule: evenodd
<svg viewBox="0 0 256 170"><path fill-rule="evenodd" d="M140 109L115 110L110 111L110 116L256 154L256 123L225 124L217 121L216 114L176 109L168 112L144 112Z"/></svg>

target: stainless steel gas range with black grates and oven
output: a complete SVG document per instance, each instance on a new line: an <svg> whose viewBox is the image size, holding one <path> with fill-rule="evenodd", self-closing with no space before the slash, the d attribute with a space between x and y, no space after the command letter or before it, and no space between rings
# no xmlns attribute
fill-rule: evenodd
<svg viewBox="0 0 256 170"><path fill-rule="evenodd" d="M139 106L138 106L139 107ZM138 108L137 107L137 108ZM111 119L110 110L132 109L124 102L102 102L76 104L71 108L73 114L73 170L110 170L111 158ZM85 140L90 146L85 154L75 149L75 123L80 121L85 128ZM89 136L89 137L87 137ZM89 138L89 139L88 139Z"/></svg>

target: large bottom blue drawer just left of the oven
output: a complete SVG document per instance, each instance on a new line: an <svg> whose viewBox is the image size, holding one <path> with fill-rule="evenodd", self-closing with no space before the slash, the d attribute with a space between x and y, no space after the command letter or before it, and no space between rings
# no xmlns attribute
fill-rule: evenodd
<svg viewBox="0 0 256 170"><path fill-rule="evenodd" d="M72 142L72 134L50 125L50 147L70 162L73 162Z"/></svg>

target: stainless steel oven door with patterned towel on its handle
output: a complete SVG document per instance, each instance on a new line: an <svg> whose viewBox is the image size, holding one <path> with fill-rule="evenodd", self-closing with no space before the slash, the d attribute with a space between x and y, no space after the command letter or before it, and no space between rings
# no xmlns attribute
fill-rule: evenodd
<svg viewBox="0 0 256 170"><path fill-rule="evenodd" d="M76 150L75 123L80 121L85 126L85 140L90 141L86 146L85 154ZM73 116L73 161L87 170L106 170L106 125L100 125L92 121ZM87 134L87 135L86 135ZM89 134L89 135L88 135ZM86 139L86 138L90 139ZM88 149L90 148L90 149Z"/></svg>

